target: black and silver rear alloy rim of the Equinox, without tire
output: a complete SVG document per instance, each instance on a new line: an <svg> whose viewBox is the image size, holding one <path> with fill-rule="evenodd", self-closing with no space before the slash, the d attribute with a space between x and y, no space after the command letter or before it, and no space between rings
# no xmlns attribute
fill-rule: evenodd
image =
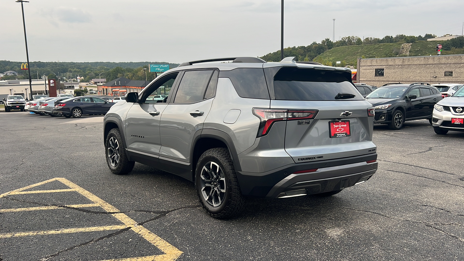
<svg viewBox="0 0 464 261"><path fill-rule="evenodd" d="M201 169L201 195L213 207L219 206L226 197L226 178L217 163L206 163Z"/></svg>

